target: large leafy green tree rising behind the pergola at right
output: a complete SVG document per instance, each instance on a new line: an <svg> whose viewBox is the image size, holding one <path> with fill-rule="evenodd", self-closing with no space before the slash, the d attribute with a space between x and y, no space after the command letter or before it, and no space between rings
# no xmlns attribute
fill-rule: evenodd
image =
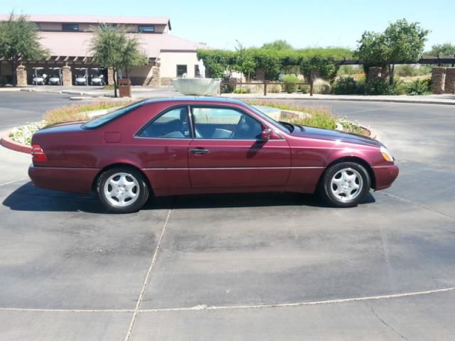
<svg viewBox="0 0 455 341"><path fill-rule="evenodd" d="M390 23L384 33L365 31L358 40L355 55L366 69L370 66L387 67L392 84L395 64L416 63L422 55L428 33L419 23L400 19Z"/></svg>

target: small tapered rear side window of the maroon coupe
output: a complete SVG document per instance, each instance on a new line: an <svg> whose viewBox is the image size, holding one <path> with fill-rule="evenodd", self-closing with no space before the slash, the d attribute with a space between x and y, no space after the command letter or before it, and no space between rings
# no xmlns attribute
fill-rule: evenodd
<svg viewBox="0 0 455 341"><path fill-rule="evenodd" d="M189 139L188 107L176 107L147 124L139 137L160 139Z"/></svg>

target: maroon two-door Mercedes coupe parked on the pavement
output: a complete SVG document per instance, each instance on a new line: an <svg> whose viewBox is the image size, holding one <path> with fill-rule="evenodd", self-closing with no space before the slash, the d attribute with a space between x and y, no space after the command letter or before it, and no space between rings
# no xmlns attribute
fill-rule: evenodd
<svg viewBox="0 0 455 341"><path fill-rule="evenodd" d="M274 121L235 99L148 99L88 122L33 135L33 183L97 191L113 212L149 195L318 191L333 206L358 205L397 178L380 142Z"/></svg>

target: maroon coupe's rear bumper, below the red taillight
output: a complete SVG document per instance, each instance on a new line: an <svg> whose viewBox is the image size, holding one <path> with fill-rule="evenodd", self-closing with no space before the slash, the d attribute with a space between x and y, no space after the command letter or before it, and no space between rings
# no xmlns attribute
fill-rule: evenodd
<svg viewBox="0 0 455 341"><path fill-rule="evenodd" d="M39 188L91 193L93 180L99 171L97 168L35 167L31 165L28 168L28 176Z"/></svg>

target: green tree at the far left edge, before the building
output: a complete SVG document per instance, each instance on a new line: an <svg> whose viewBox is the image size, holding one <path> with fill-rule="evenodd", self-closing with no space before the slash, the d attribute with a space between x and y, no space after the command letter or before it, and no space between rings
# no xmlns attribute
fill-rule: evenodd
<svg viewBox="0 0 455 341"><path fill-rule="evenodd" d="M20 60L39 60L48 51L39 42L40 36L35 23L28 16L10 14L8 20L0 22L0 56L9 60L13 74L13 85L17 85L16 67Z"/></svg>

